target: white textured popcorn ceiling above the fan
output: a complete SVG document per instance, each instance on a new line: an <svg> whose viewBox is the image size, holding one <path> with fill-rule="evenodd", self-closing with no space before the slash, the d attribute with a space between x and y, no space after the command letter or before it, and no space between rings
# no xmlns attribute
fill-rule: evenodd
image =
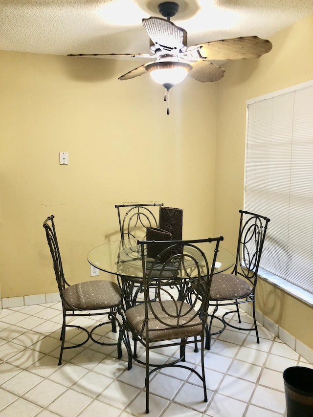
<svg viewBox="0 0 313 417"><path fill-rule="evenodd" d="M53 55L149 53L141 20L161 0L0 0L0 49ZM171 19L188 46L237 36L268 39L313 13L313 0L176 0Z"/></svg>

